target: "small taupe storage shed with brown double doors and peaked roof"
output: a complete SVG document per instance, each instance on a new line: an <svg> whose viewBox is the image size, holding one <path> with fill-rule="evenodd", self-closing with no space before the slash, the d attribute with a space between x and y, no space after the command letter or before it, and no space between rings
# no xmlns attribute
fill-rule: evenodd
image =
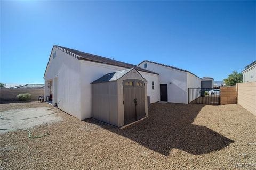
<svg viewBox="0 0 256 170"><path fill-rule="evenodd" d="M91 84L93 118L121 127L148 116L147 81L136 69L108 73Z"/></svg>

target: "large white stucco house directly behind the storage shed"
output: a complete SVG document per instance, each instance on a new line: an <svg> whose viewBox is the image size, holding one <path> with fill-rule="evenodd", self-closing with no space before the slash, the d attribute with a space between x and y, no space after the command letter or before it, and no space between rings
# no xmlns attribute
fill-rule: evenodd
<svg viewBox="0 0 256 170"><path fill-rule="evenodd" d="M144 79L155 82L158 87L155 89L151 89L151 85L144 82L148 89L145 95L150 96L150 103L159 101L158 73L133 64L54 45L44 74L45 99L52 95L53 105L58 104L62 111L80 120L90 118L93 105L91 83L107 73L131 68L138 71ZM145 112L147 113L147 108Z"/></svg>

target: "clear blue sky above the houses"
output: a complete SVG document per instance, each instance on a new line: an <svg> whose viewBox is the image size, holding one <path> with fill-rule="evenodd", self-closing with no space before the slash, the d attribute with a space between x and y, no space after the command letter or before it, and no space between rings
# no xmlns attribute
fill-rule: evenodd
<svg viewBox="0 0 256 170"><path fill-rule="evenodd" d="M0 82L44 83L52 46L199 77L256 60L255 1L1 1Z"/></svg>

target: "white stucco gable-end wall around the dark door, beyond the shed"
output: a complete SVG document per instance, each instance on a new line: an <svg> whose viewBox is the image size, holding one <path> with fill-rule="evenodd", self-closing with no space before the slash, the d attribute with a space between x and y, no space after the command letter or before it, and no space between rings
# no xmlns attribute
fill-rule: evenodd
<svg viewBox="0 0 256 170"><path fill-rule="evenodd" d="M147 63L145 69L159 73L159 84L167 84L168 102L187 104L187 72L149 62L143 62L139 67L144 69L145 63Z"/></svg>

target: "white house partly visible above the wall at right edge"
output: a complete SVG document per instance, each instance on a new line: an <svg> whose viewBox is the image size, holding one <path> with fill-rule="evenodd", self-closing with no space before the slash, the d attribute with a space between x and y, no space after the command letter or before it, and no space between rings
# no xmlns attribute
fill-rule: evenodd
<svg viewBox="0 0 256 170"><path fill-rule="evenodd" d="M242 73L244 83L256 81L256 61L247 65L242 71Z"/></svg>

